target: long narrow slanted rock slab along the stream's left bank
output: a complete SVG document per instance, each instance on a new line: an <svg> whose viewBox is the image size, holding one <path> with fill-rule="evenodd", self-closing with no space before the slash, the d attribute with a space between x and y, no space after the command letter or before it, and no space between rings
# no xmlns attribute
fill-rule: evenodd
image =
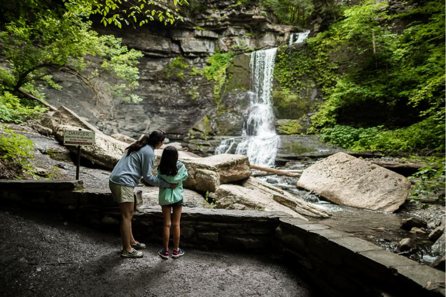
<svg viewBox="0 0 446 297"><path fill-rule="evenodd" d="M294 210L295 212L314 218L327 218L329 214L323 209L314 206L300 198L297 198L290 193L274 187L266 182L263 182L255 177L250 177L242 184L243 187L255 190L263 195L268 196L270 199Z"/></svg>

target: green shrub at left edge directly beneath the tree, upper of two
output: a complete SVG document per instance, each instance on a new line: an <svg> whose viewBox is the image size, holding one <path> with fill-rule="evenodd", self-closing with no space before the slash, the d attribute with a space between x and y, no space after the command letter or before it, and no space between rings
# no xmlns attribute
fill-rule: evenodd
<svg viewBox="0 0 446 297"><path fill-rule="evenodd" d="M43 113L46 110L47 108L41 106L26 106L11 93L0 91L0 120L2 122L19 124L32 115Z"/></svg>

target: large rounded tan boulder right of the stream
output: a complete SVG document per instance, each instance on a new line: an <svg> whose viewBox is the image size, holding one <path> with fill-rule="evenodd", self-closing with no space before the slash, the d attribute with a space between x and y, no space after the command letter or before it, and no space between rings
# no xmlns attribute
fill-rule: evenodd
<svg viewBox="0 0 446 297"><path fill-rule="evenodd" d="M407 198L410 183L400 174L338 152L305 169L297 187L337 204L393 212Z"/></svg>

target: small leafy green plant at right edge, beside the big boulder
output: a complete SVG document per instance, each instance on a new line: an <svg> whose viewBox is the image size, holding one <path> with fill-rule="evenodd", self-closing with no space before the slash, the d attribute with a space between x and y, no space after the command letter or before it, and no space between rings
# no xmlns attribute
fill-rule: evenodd
<svg viewBox="0 0 446 297"><path fill-rule="evenodd" d="M425 202L445 201L445 158L432 160L408 179L415 181L410 202L419 203L422 208L427 209L429 204Z"/></svg>

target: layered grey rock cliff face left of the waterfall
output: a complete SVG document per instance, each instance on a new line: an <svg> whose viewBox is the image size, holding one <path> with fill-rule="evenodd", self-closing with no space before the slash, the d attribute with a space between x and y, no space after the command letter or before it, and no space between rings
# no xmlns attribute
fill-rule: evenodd
<svg viewBox="0 0 446 297"><path fill-rule="evenodd" d="M47 90L48 101L73 109L109 135L138 138L156 128L174 140L237 135L248 104L249 52L287 44L291 32L302 31L275 24L271 14L256 3L247 8L235 0L194 1L184 8L184 22L175 26L155 22L135 29L97 25L101 34L120 37L124 45L144 53L136 92L143 100L125 103L107 95L96 99L74 79L60 76L63 89ZM231 51L235 56L225 83L216 92L216 83L194 75L193 69L206 67L206 58L217 51ZM181 61L180 66L175 61ZM100 79L96 85L100 90Z"/></svg>

